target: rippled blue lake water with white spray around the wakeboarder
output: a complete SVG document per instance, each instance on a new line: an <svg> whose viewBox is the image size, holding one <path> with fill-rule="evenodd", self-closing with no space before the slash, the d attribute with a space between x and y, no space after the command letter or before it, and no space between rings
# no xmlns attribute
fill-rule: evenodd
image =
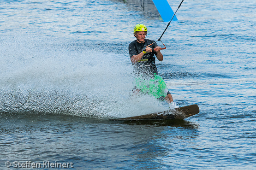
<svg viewBox="0 0 256 170"><path fill-rule="evenodd" d="M0 0L1 169L255 169L255 9L249 0L184 1L156 64L179 106L200 113L117 122L109 119L167 109L131 99L128 54L134 25L157 40L167 23L110 0Z"/></svg>

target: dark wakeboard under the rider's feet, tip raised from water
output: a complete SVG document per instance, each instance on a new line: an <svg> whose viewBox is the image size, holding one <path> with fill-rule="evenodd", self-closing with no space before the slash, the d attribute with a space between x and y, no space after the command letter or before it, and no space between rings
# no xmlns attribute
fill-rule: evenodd
<svg viewBox="0 0 256 170"><path fill-rule="evenodd" d="M151 113L147 115L117 118L114 120L170 120L170 119L185 119L199 113L199 107L197 105L190 105L170 109L167 111L160 111L157 113Z"/></svg>

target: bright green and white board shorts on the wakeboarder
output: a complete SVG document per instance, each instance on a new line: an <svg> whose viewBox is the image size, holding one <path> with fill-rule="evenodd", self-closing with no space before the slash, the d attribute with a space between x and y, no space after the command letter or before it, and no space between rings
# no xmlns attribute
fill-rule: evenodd
<svg viewBox="0 0 256 170"><path fill-rule="evenodd" d="M164 98L167 94L170 94L164 80L157 74L153 79L145 80L141 76L136 77L134 84L134 89L139 89L143 94L151 94L156 99Z"/></svg>

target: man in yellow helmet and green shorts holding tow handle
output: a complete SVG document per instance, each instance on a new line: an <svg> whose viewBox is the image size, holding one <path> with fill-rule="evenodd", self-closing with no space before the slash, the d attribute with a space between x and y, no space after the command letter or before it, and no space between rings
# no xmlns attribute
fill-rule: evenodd
<svg viewBox="0 0 256 170"><path fill-rule="evenodd" d="M171 109L179 107L173 102L172 94L157 72L155 56L159 61L163 60L161 47L158 47L156 42L145 39L148 33L145 25L137 24L133 33L137 39L129 45L131 63L136 75L133 93L152 94L159 100L165 99Z"/></svg>

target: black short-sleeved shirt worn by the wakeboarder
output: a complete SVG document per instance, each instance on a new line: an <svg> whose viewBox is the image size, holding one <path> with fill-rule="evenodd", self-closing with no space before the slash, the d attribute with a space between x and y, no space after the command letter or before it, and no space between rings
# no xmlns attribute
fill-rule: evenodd
<svg viewBox="0 0 256 170"><path fill-rule="evenodd" d="M130 58L133 55L137 55L142 52L143 48L147 47L149 44L153 43L154 41L146 39L145 42L139 43L137 40L132 41L129 45L129 54ZM156 42L149 46L150 48L157 47ZM141 60L137 63L133 63L133 69L137 76L143 77L152 77L157 74L157 68L155 65L155 55L156 52L152 53L145 53Z"/></svg>

